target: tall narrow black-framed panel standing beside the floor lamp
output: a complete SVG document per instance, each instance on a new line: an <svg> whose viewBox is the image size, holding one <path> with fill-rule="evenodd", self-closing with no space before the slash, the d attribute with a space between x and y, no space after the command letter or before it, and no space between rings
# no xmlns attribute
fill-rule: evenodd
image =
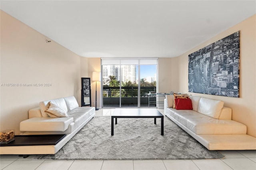
<svg viewBox="0 0 256 170"><path fill-rule="evenodd" d="M81 107L92 106L91 102L91 80L90 78L81 78Z"/></svg>

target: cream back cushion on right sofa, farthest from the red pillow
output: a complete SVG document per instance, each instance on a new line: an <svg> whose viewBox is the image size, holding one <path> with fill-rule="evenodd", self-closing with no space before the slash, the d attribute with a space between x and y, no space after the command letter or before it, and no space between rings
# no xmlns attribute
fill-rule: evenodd
<svg viewBox="0 0 256 170"><path fill-rule="evenodd" d="M197 111L206 116L210 116L215 119L218 119L223 105L224 105L223 101L201 97L198 103Z"/></svg>

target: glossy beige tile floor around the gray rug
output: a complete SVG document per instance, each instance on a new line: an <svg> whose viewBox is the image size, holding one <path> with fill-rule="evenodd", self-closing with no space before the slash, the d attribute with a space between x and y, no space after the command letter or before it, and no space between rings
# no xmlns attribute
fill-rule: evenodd
<svg viewBox="0 0 256 170"><path fill-rule="evenodd" d="M159 109L163 113L163 109ZM100 109L110 116L114 109ZM31 160L0 155L1 170L256 170L256 150L222 150L224 159L208 160Z"/></svg>

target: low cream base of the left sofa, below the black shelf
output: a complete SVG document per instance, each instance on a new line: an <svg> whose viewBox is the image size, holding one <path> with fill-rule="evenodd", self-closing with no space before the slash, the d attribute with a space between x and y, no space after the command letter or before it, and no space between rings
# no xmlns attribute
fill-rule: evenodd
<svg viewBox="0 0 256 170"><path fill-rule="evenodd" d="M19 155L30 155L30 154L56 154L86 123L88 123L95 113L91 115L84 123L82 123L76 130L70 134L66 134L62 140L56 145L32 145L32 146L1 146L0 154L19 154ZM27 132L26 134L29 134Z"/></svg>

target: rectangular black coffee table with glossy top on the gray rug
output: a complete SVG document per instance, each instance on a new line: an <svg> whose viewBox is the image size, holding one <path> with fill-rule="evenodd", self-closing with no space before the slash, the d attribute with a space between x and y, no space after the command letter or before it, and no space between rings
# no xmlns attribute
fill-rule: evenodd
<svg viewBox="0 0 256 170"><path fill-rule="evenodd" d="M164 135L164 116L157 109L150 108L136 108L136 109L115 109L111 115L111 135L114 135L114 119L117 118L154 118L154 124L156 124L156 118L161 118L161 135Z"/></svg>

